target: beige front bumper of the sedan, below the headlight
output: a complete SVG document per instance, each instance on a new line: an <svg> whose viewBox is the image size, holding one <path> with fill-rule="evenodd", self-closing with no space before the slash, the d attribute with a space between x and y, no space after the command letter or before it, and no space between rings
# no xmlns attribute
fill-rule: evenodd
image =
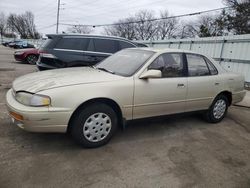
<svg viewBox="0 0 250 188"><path fill-rule="evenodd" d="M26 131L58 133L67 131L72 114L70 111L58 110L58 108L53 110L53 107L25 106L15 100L11 89L7 92L6 101L12 122ZM17 119L12 114L18 114L22 119Z"/></svg>

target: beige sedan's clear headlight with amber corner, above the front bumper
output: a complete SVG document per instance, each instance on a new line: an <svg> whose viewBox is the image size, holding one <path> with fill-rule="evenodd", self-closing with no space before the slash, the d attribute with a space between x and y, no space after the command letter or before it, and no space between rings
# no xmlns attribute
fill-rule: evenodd
<svg viewBox="0 0 250 188"><path fill-rule="evenodd" d="M49 106L50 97L28 92L16 92L16 100L27 106Z"/></svg>

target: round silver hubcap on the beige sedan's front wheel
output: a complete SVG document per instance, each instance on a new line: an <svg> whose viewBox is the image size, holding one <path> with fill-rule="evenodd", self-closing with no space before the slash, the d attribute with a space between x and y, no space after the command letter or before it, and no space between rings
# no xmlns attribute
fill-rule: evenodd
<svg viewBox="0 0 250 188"><path fill-rule="evenodd" d="M111 126L111 119L107 114L95 113L85 121L83 135L88 141L99 142L108 136Z"/></svg>

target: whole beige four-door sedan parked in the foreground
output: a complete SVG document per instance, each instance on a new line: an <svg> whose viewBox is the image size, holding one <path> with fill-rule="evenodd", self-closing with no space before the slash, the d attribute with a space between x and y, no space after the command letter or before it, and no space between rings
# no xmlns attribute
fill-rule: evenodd
<svg viewBox="0 0 250 188"><path fill-rule="evenodd" d="M125 49L95 67L37 72L7 93L13 122L32 132L70 132L85 147L106 144L128 120L203 111L221 121L243 99L244 78L197 53Z"/></svg>

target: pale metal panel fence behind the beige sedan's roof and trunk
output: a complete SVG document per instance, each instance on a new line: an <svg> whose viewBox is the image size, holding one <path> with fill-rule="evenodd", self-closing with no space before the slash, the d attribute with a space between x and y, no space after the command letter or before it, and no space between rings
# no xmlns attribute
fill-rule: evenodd
<svg viewBox="0 0 250 188"><path fill-rule="evenodd" d="M177 48L203 53L225 69L243 74L250 82L250 34L225 37L140 41L156 48Z"/></svg>

